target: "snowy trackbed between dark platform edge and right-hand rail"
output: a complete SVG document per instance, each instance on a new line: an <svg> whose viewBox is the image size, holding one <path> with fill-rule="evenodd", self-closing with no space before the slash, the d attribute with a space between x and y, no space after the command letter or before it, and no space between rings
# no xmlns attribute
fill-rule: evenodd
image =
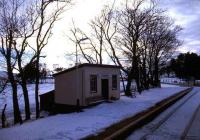
<svg viewBox="0 0 200 140"><path fill-rule="evenodd" d="M195 88L190 94L186 95L172 107L161 113L152 122L145 125L142 129L133 132L127 139L179 140L188 128L188 124L191 123L193 114L196 112L199 105L200 88ZM197 122L199 122L199 119ZM198 128L197 130L200 128L200 126L193 126L191 129L194 127L196 127L195 129ZM189 132L190 135L192 135L191 131ZM188 134L186 133L186 135Z"/></svg>

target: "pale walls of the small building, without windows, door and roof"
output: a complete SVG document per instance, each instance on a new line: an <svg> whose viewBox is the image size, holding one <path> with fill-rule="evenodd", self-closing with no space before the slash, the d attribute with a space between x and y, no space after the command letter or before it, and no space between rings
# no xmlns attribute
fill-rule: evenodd
<svg viewBox="0 0 200 140"><path fill-rule="evenodd" d="M97 93L90 92L90 75L97 75ZM76 75L78 79L76 80ZM112 75L117 75L117 89L112 90ZM55 77L55 103L88 105L88 98L101 97L101 79L109 80L109 99L120 98L120 71L116 68L81 67Z"/></svg>

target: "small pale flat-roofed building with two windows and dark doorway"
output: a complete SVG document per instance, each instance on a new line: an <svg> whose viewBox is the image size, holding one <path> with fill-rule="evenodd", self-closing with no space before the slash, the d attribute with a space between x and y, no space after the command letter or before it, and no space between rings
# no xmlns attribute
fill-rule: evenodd
<svg viewBox="0 0 200 140"><path fill-rule="evenodd" d="M120 98L120 68L114 65L80 64L54 74L54 102L87 106Z"/></svg>

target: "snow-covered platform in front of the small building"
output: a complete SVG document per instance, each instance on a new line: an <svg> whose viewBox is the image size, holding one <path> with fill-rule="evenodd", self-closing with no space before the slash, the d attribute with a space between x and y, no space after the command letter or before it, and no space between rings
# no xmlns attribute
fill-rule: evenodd
<svg viewBox="0 0 200 140"><path fill-rule="evenodd" d="M164 87L144 91L137 98L122 96L113 103L102 103L81 113L59 114L20 126L0 130L1 140L80 139L97 134L111 124L137 114L185 89Z"/></svg>

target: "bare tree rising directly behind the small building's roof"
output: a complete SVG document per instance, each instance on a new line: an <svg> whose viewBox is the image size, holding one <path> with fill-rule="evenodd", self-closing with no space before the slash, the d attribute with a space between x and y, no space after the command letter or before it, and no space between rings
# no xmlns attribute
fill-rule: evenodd
<svg viewBox="0 0 200 140"><path fill-rule="evenodd" d="M114 5L114 4L113 4ZM73 38L70 38L78 47L81 56L88 63L103 64L103 55L105 54L105 29L109 26L108 19L112 8L105 6L101 14L96 16L94 20L89 22L90 34L88 35L80 28L74 27L71 29ZM87 43L81 43L82 39L86 39Z"/></svg>

